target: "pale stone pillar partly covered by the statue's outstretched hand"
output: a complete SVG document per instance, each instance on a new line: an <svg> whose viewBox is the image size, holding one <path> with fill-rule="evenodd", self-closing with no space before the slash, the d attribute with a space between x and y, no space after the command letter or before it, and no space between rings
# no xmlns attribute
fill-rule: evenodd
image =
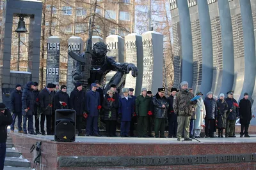
<svg viewBox="0 0 256 170"><path fill-rule="evenodd" d="M133 63L139 69L136 78L131 73L127 74L125 87L133 88L135 96L141 94L142 76L143 76L143 46L142 37L139 34L128 34L125 36L125 55L126 62Z"/></svg>

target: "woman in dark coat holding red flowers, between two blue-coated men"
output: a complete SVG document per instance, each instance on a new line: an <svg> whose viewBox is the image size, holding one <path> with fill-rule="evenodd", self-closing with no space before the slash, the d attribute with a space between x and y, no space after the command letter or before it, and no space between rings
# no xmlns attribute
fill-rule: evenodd
<svg viewBox="0 0 256 170"><path fill-rule="evenodd" d="M102 108L104 113L104 120L106 120L106 131L107 136L115 136L113 134L116 125L116 110L118 109L118 100L113 97L114 92L108 90L106 96L104 97Z"/></svg>

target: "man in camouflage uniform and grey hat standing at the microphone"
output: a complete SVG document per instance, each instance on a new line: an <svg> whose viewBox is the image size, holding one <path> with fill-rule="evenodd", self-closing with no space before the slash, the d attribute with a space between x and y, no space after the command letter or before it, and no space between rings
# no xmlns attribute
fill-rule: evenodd
<svg viewBox="0 0 256 170"><path fill-rule="evenodd" d="M180 83L180 87L181 89L177 92L173 101L174 113L178 114L177 139L180 141L184 128L184 140L191 141L192 139L189 138L189 124L191 115L195 109L196 101L190 101L194 96L188 91L187 81L182 81L182 83Z"/></svg>

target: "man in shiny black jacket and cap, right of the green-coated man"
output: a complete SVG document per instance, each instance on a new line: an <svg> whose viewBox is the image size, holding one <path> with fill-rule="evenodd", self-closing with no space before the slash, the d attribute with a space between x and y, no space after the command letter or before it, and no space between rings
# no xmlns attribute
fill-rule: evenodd
<svg viewBox="0 0 256 170"><path fill-rule="evenodd" d="M155 137L165 138L164 136L164 127L165 119L167 118L168 111L168 99L164 96L165 89L159 88L156 96L152 98L152 104L154 106L154 118L155 118Z"/></svg>

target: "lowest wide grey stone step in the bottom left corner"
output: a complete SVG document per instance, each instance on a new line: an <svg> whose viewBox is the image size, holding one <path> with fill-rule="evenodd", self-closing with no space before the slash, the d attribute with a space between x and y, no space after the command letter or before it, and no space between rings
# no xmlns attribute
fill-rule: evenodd
<svg viewBox="0 0 256 170"><path fill-rule="evenodd" d="M22 159L21 156L19 158L6 157L4 161L4 166L30 167L30 162L27 159Z"/></svg>

